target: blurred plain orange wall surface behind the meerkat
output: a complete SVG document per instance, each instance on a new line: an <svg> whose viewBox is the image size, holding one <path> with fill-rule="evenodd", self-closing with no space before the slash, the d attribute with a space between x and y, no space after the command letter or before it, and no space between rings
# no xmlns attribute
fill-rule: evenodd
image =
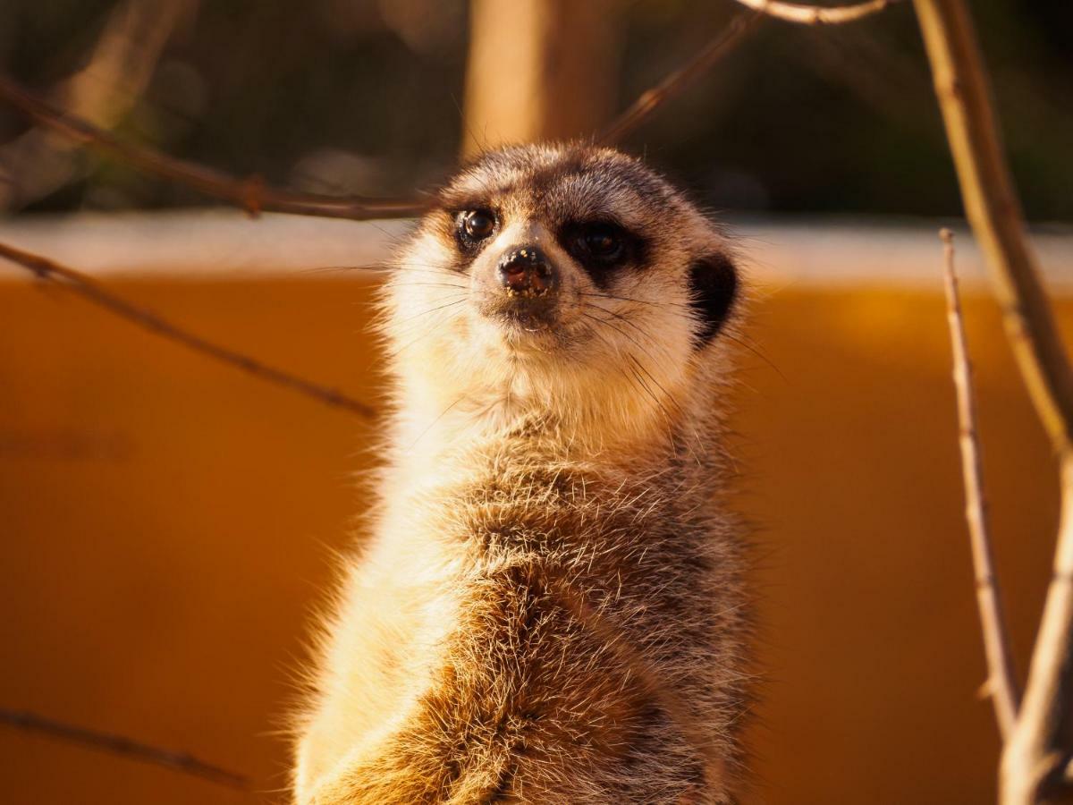
<svg viewBox="0 0 1073 805"><path fill-rule="evenodd" d="M128 283L206 335L374 399L368 288ZM1024 668L1056 484L989 303L970 299L989 496ZM1061 314L1073 323L1073 304ZM0 284L0 707L284 785L271 733L348 542L369 426L48 289ZM756 802L982 803L997 753L938 295L784 290L743 353L758 524ZM249 795L0 726L11 803Z"/></svg>

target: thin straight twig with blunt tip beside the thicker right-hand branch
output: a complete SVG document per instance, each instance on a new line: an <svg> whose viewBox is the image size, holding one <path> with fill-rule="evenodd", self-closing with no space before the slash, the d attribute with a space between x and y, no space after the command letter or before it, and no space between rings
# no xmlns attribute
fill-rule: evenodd
<svg viewBox="0 0 1073 805"><path fill-rule="evenodd" d="M957 391L957 419L960 425L961 477L965 482L965 518L972 544L972 567L976 582L976 606L987 658L987 691L995 706L999 733L1005 741L1017 722L1020 690L1010 654L1009 631L995 557L991 552L987 499L984 496L984 470L976 431L976 404L972 385L972 364L965 338L961 299L954 272L954 233L942 230L943 287L946 291L946 320L954 354L954 387Z"/></svg>

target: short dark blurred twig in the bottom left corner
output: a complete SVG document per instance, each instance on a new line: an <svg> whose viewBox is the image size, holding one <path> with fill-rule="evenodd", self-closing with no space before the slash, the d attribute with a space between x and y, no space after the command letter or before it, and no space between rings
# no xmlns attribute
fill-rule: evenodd
<svg viewBox="0 0 1073 805"><path fill-rule="evenodd" d="M188 752L144 744L141 741L134 741L123 735L87 730L84 727L54 721L50 718L45 718L34 713L4 708L0 708L0 723L16 727L27 732L36 732L42 735L59 738L60 741L67 741L87 749L97 749L113 755L120 755L132 760L139 760L144 763L165 766L175 772L190 774L211 782L230 786L231 788L249 789L249 778L244 775L229 772L226 769L221 769L211 763L206 763L204 760L200 760Z"/></svg>

